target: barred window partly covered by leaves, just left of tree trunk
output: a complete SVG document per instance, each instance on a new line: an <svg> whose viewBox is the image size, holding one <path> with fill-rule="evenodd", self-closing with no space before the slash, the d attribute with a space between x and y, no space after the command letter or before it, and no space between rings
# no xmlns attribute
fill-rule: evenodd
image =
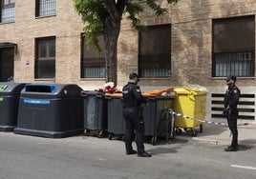
<svg viewBox="0 0 256 179"><path fill-rule="evenodd" d="M81 78L105 78L105 49L103 36L98 37L98 45L101 51L90 49L86 45L86 38L81 35Z"/></svg>

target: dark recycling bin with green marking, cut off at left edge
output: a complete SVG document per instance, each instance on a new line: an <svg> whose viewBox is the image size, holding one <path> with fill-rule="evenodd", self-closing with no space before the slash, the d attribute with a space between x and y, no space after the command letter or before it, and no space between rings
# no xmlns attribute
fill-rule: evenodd
<svg viewBox="0 0 256 179"><path fill-rule="evenodd" d="M13 131L17 126L20 92L24 83L0 83L0 130Z"/></svg>

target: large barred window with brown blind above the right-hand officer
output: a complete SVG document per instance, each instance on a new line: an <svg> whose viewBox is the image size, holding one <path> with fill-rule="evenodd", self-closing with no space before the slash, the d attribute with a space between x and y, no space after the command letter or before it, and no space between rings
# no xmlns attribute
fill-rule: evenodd
<svg viewBox="0 0 256 179"><path fill-rule="evenodd" d="M255 17L213 20L212 76L254 76Z"/></svg>

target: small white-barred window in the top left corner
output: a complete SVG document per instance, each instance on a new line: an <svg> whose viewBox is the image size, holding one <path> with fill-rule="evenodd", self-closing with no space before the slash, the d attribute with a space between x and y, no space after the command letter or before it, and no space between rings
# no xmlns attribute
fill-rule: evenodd
<svg viewBox="0 0 256 179"><path fill-rule="evenodd" d="M15 0L0 0L0 23L11 23L15 20Z"/></svg>

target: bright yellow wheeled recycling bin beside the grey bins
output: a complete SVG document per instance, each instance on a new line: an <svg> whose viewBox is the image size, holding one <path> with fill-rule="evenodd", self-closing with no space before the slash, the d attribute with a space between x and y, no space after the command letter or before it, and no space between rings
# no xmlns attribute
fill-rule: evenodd
<svg viewBox="0 0 256 179"><path fill-rule="evenodd" d="M204 89L185 87L174 88L174 91L177 96L174 99L173 110L193 118L188 119L175 116L175 128L178 129L178 134L181 133L181 129L191 129L192 135L196 136L197 131L195 128L200 127L200 131L203 131L203 122L198 120L204 120L205 117L207 91Z"/></svg>

